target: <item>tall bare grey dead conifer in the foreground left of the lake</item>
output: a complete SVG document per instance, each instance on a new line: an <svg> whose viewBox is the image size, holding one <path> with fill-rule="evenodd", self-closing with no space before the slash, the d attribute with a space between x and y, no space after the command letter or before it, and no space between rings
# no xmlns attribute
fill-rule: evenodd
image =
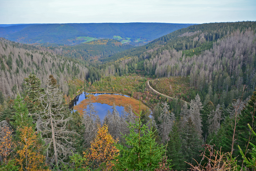
<svg viewBox="0 0 256 171"><path fill-rule="evenodd" d="M43 106L44 111L40 114L36 114L38 120L36 122L36 128L41 132L46 149L46 157L49 163L55 163L58 166L58 162L63 162L67 159L71 151L75 151L72 148L71 134L75 134L75 131L69 131L66 128L66 124L72 117L65 118L62 113L63 108L63 96L59 93L59 88L56 85L56 80L53 77L49 77L44 94L40 94L39 100Z"/></svg>

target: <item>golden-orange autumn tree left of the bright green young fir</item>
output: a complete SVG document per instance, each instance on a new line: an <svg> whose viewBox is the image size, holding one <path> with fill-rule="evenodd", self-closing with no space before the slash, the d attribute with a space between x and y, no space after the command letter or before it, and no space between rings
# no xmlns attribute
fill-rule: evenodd
<svg viewBox="0 0 256 171"><path fill-rule="evenodd" d="M118 140L114 140L108 133L108 125L100 127L98 125L98 133L95 139L91 142L91 148L84 152L87 159L86 164L92 162L92 167L102 167L102 170L111 170L114 166L114 159L119 155L119 150L115 144Z"/></svg>

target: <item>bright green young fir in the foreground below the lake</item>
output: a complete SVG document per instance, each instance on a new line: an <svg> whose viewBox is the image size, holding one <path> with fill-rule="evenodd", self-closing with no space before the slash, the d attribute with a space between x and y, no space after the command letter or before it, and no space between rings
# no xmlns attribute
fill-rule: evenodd
<svg viewBox="0 0 256 171"><path fill-rule="evenodd" d="M130 134L124 136L125 145L117 144L120 151L117 170L153 170L162 159L164 147L155 142L152 127L142 124L141 113L135 113L136 123L129 124Z"/></svg>

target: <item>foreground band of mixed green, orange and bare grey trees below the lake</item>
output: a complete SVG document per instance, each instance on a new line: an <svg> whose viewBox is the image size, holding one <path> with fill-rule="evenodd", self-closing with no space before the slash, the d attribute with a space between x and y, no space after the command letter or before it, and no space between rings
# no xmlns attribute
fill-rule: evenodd
<svg viewBox="0 0 256 171"><path fill-rule="evenodd" d="M134 113L132 106L120 114L114 104L102 124L90 97L83 116L71 113L52 75L44 88L34 74L24 81L22 97L1 105L1 169L159 171L170 170L171 164L175 170L255 169L256 91L228 109L212 102L203 106L198 94L179 115L167 102L159 103L151 118L146 111ZM239 153L247 153L244 161Z"/></svg>

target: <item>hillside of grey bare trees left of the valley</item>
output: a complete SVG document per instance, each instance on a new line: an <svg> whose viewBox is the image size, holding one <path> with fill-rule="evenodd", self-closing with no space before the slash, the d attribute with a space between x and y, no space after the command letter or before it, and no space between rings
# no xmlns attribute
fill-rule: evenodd
<svg viewBox="0 0 256 171"><path fill-rule="evenodd" d="M60 90L68 94L67 81L86 79L88 69L83 63L64 58L56 51L45 47L15 43L0 38L0 90L5 97L21 92L24 78L36 74L43 84L47 75L52 74L60 84ZM58 49L56 49L58 50Z"/></svg>

